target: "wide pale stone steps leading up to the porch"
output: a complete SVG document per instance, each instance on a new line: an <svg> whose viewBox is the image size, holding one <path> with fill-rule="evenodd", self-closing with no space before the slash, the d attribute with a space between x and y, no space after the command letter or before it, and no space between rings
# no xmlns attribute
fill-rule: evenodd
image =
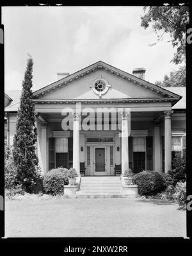
<svg viewBox="0 0 192 256"><path fill-rule="evenodd" d="M127 198L119 176L83 176L76 198Z"/></svg>

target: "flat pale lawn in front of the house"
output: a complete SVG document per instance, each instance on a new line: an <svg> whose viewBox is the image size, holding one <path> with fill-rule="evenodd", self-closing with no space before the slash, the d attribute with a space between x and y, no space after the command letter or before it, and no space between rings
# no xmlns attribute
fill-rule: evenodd
<svg viewBox="0 0 192 256"><path fill-rule="evenodd" d="M186 211L163 200L6 200L6 237L185 237Z"/></svg>

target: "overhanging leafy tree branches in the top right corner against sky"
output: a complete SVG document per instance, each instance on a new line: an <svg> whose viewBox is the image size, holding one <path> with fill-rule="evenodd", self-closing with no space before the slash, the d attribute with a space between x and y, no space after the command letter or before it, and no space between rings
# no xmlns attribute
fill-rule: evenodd
<svg viewBox="0 0 192 256"><path fill-rule="evenodd" d="M163 38L164 33L168 33L172 46L177 49L172 62L182 63L186 56L186 25L189 23L189 7L145 6L144 12L146 13L141 17L141 26L146 29L152 24L158 41ZM163 33L158 34L158 32Z"/></svg>

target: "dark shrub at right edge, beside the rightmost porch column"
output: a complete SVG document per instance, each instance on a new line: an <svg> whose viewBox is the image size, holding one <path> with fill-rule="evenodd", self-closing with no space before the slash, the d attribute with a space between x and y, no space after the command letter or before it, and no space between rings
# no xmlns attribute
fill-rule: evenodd
<svg viewBox="0 0 192 256"><path fill-rule="evenodd" d="M173 168L168 171L172 178L172 184L175 186L177 182L186 181L186 153L184 152L183 157L175 157L173 159Z"/></svg>

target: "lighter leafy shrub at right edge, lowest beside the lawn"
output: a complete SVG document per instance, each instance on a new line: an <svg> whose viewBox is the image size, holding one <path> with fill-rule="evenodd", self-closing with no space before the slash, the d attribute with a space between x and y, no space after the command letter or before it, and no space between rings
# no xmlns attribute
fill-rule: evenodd
<svg viewBox="0 0 192 256"><path fill-rule="evenodd" d="M175 186L175 200L179 203L180 209L186 209L186 182L178 182Z"/></svg>

